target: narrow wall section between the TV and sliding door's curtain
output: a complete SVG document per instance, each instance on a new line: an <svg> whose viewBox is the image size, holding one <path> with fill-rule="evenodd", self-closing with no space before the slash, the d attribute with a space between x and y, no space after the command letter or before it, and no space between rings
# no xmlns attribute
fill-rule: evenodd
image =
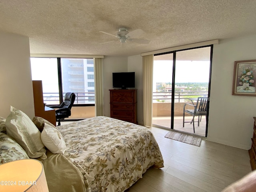
<svg viewBox="0 0 256 192"><path fill-rule="evenodd" d="M128 57L128 72L135 72L135 88L137 89L137 120L138 124L144 125L142 97L142 56L135 55Z"/></svg>

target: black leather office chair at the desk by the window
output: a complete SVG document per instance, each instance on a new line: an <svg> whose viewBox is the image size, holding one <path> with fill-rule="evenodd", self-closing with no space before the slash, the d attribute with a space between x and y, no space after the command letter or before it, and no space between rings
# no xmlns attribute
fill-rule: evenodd
<svg viewBox="0 0 256 192"><path fill-rule="evenodd" d="M72 92L67 92L64 97L64 101L60 106L54 105L50 106L50 108L58 108L55 110L56 121L58 121L58 126L60 126L60 120L64 120L71 115L71 108L76 99L76 95Z"/></svg>

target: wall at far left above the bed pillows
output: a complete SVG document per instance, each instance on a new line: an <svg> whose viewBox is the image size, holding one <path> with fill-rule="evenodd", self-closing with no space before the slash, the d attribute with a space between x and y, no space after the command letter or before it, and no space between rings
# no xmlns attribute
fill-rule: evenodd
<svg viewBox="0 0 256 192"><path fill-rule="evenodd" d="M10 114L10 105L34 116L29 38L0 32L0 116Z"/></svg>

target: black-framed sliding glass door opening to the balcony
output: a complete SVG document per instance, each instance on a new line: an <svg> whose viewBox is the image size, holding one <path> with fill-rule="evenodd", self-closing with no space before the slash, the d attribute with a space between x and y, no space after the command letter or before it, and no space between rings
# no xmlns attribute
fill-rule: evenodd
<svg viewBox="0 0 256 192"><path fill-rule="evenodd" d="M211 58L212 46L154 56L154 125L207 136Z"/></svg>

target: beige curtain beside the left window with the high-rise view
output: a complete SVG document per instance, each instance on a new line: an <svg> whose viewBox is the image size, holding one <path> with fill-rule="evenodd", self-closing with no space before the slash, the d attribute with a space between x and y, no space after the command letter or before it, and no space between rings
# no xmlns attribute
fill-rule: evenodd
<svg viewBox="0 0 256 192"><path fill-rule="evenodd" d="M95 116L103 116L103 58L94 58Z"/></svg>

